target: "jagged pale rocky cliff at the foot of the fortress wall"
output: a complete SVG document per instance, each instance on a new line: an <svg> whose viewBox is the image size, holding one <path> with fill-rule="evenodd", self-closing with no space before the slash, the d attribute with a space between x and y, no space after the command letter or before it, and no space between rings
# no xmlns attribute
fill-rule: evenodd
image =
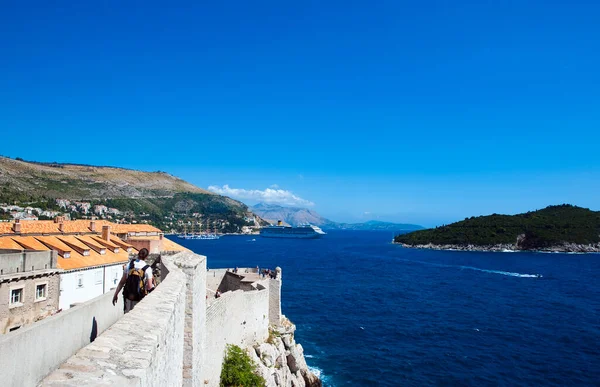
<svg viewBox="0 0 600 387"><path fill-rule="evenodd" d="M296 326L283 317L281 326L271 327L266 343L248 348L266 387L321 387L308 369L302 345L294 340Z"/></svg>

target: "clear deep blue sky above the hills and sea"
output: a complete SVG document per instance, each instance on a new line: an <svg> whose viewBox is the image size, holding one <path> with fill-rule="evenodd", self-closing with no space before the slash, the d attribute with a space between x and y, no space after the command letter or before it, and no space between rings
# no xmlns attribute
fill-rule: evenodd
<svg viewBox="0 0 600 387"><path fill-rule="evenodd" d="M341 221L600 210L600 3L73 3L3 2L3 155Z"/></svg>

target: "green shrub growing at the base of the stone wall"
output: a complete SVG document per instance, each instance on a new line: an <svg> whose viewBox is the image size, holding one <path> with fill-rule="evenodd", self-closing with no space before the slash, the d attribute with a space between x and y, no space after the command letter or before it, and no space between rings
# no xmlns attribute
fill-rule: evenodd
<svg viewBox="0 0 600 387"><path fill-rule="evenodd" d="M221 387L264 387L265 381L255 373L256 365L237 345L227 345L221 370Z"/></svg>

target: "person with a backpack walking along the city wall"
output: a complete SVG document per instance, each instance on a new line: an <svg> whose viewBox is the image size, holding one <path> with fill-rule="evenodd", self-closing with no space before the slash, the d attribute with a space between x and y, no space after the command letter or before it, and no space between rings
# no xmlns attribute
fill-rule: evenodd
<svg viewBox="0 0 600 387"><path fill-rule="evenodd" d="M129 261L125 270L123 270L123 277L121 277L121 281L119 282L119 286L117 286L117 290L113 297L113 305L119 300L119 293L121 292L121 289L123 289L125 313L133 309L146 294L154 289L152 267L146 264L148 254L148 249L141 249L138 252L137 259Z"/></svg>

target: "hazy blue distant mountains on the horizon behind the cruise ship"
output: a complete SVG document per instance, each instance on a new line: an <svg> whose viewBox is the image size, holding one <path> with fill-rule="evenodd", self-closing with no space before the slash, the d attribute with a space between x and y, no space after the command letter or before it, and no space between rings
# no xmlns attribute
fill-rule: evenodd
<svg viewBox="0 0 600 387"><path fill-rule="evenodd" d="M292 226L310 223L328 230L390 230L415 231L423 229L416 224L401 224L370 220L364 223L338 223L324 218L314 210L301 207L283 207L274 204L260 203L250 207L252 212L272 223L281 220Z"/></svg>

